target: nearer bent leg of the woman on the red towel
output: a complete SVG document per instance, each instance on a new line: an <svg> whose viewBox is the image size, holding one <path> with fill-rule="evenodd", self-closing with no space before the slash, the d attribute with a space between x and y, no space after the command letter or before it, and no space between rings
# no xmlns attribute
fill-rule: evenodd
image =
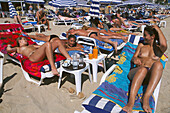
<svg viewBox="0 0 170 113"><path fill-rule="evenodd" d="M51 65L51 70L54 75L58 75L58 71L55 67L54 64L54 58L53 58L53 51L52 51L52 46L50 42L46 42L43 44L41 47L39 47L31 56L30 56L30 61L32 62L39 62L42 61L45 56L47 56L47 59L50 62Z"/></svg>

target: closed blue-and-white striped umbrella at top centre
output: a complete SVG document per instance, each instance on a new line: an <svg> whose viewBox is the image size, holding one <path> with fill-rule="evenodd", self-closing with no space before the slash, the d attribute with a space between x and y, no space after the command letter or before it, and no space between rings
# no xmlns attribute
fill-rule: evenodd
<svg viewBox="0 0 170 113"><path fill-rule="evenodd" d="M90 6L90 11L89 11L89 16L91 17L99 17L99 11L100 11L100 4L99 0L92 0L91 6Z"/></svg>

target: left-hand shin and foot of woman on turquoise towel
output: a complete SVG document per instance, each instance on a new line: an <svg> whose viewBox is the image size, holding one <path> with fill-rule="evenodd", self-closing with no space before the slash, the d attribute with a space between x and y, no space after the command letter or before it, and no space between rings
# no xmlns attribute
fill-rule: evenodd
<svg viewBox="0 0 170 113"><path fill-rule="evenodd" d="M132 113L132 108L135 103L135 97L137 95L137 92L138 92L140 86L143 83L143 80L144 80L147 72L148 72L148 70L145 67L138 67L138 70L136 71L136 74L132 80L129 101L128 101L127 105L122 108L127 113Z"/></svg>

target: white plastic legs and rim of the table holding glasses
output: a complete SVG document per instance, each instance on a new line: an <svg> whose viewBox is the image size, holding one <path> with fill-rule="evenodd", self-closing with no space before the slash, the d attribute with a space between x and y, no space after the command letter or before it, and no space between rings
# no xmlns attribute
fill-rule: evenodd
<svg viewBox="0 0 170 113"><path fill-rule="evenodd" d="M58 80L58 89L60 88L63 71L65 71L65 72L67 72L67 73L72 73L72 74L75 75L76 91L77 91L77 95L78 95L79 92L81 92L81 74L82 74L84 71L86 71L87 69L88 69L88 72L89 72L90 82L92 81L89 63L85 63L85 64L86 64L86 66L85 66L84 68L82 68L82 69L77 69L77 70L70 70L70 69L64 68L64 67L61 65L61 66L60 66L60 77L59 77L59 80Z"/></svg>

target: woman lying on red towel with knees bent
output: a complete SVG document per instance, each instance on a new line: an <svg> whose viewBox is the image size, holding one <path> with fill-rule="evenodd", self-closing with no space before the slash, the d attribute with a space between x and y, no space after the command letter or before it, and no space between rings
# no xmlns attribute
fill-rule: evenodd
<svg viewBox="0 0 170 113"><path fill-rule="evenodd" d="M17 39L18 47L11 48L10 45L7 46L7 52L17 52L29 58L32 62L42 61L45 57L50 62L52 73L54 75L58 75L59 73L54 64L53 52L56 48L67 58L72 59L61 41L58 42L46 42L45 44L39 45L28 45L27 39L25 37L19 37Z"/></svg>

